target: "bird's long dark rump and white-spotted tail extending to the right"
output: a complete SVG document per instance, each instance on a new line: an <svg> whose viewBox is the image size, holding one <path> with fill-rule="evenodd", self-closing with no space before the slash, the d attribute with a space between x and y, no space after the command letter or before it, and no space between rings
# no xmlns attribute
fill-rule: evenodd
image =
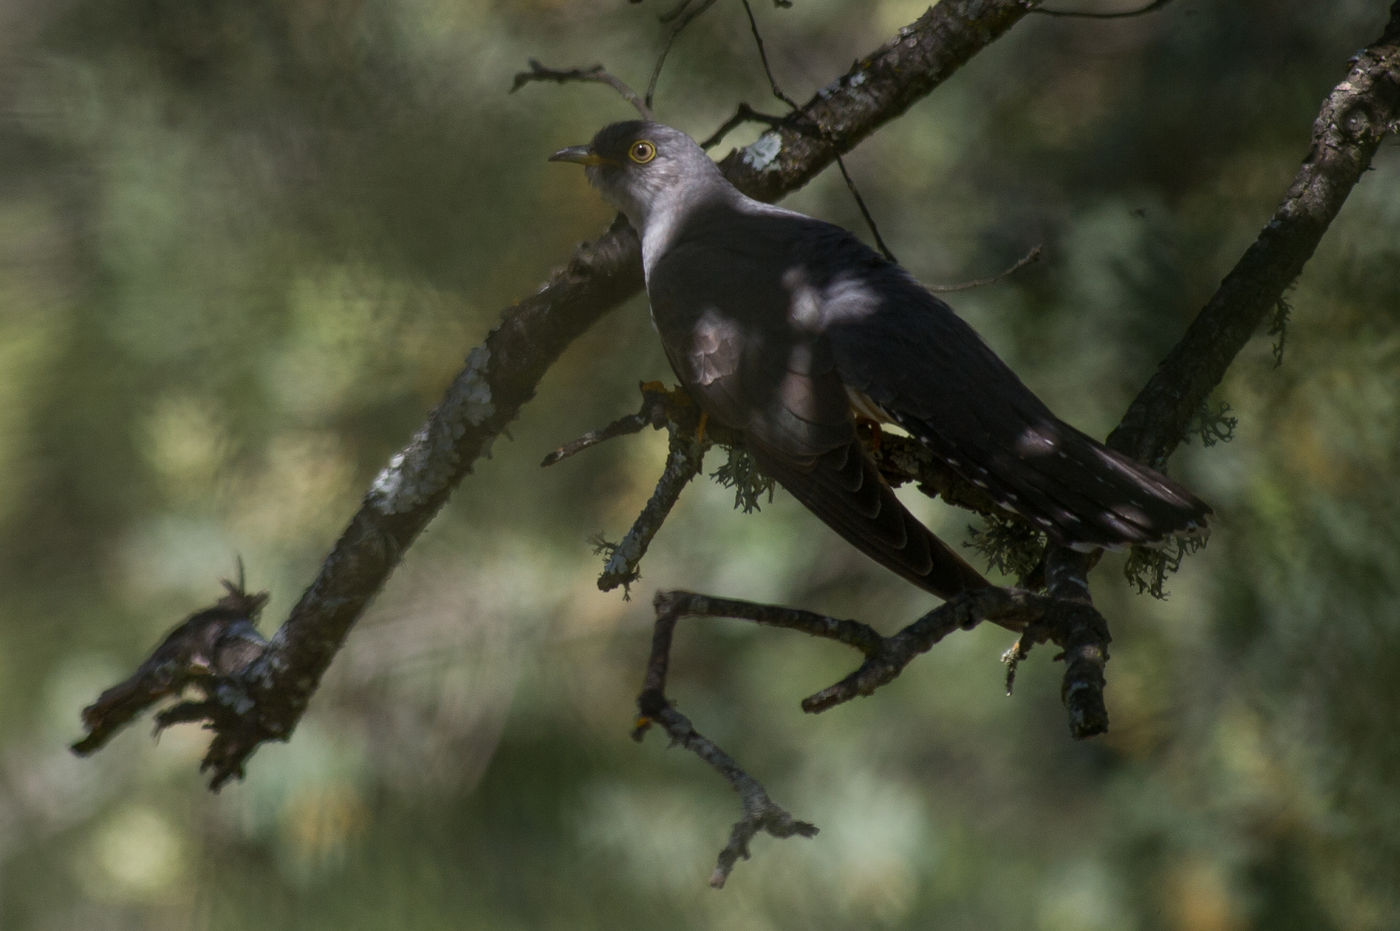
<svg viewBox="0 0 1400 931"><path fill-rule="evenodd" d="M903 269L843 230L823 232L823 291L846 295L823 321L841 379L958 475L1079 549L1204 529L1200 498L1063 423Z"/></svg>

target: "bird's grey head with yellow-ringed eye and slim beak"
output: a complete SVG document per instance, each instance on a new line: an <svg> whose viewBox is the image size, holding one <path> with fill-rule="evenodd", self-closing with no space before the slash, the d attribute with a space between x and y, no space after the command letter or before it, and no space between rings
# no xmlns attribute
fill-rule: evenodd
<svg viewBox="0 0 1400 931"><path fill-rule="evenodd" d="M594 141L560 148L549 160L584 165L588 182L643 235L655 214L675 217L690 203L732 190L693 139L648 120L605 126Z"/></svg>

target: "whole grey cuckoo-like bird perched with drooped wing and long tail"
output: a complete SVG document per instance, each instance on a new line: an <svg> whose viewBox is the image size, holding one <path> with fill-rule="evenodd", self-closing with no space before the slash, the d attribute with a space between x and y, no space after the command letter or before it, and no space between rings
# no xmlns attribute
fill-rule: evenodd
<svg viewBox="0 0 1400 931"><path fill-rule="evenodd" d="M951 598L988 582L895 497L855 431L895 423L1005 510L1081 550L1200 533L1211 514L1065 424L952 308L848 231L745 196L680 130L613 123L550 161L641 237L680 382L837 533Z"/></svg>

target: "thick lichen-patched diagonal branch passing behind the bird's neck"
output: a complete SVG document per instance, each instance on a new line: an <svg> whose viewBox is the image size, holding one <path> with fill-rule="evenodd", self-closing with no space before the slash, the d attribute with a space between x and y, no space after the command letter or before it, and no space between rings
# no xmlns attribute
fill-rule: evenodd
<svg viewBox="0 0 1400 931"><path fill-rule="evenodd" d="M781 127L721 165L746 193L776 200L917 99L1015 25L1039 0L945 0L900 29ZM827 129L820 140L801 125ZM239 727L211 721L204 759L211 787L235 776L267 739L287 739L350 627L472 463L519 414L560 353L606 311L641 290L636 234L626 224L580 246L473 349L465 368L365 494L315 581L267 648L230 679L239 685Z"/></svg>

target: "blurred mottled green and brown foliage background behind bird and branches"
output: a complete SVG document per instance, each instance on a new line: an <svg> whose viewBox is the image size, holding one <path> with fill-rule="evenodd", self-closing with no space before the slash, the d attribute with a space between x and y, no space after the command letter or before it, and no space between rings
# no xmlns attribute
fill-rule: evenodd
<svg viewBox="0 0 1400 931"><path fill-rule="evenodd" d="M925 281L1044 246L953 300L1103 435L1267 220L1387 7L1029 17L850 167ZM654 591L886 630L928 605L783 496L745 517L706 482L631 601L595 589L587 538L622 535L664 438L538 463L669 375L636 300L549 374L245 783L203 788L195 728L67 752L78 710L237 556L280 623L500 309L605 227L580 172L545 157L626 105L507 88L532 56L644 85L665 8L0 6L0 927L1394 927L1394 141L1288 293L1282 365L1260 335L1221 386L1233 441L1172 461L1219 514L1210 547L1165 602L1121 561L1095 574L1114 623L1105 738L1068 739L1049 650L1002 694L998 630L812 718L798 700L853 655L683 626L680 707L822 827L759 839L708 889L734 797L627 739ZM798 99L920 11L755 4ZM676 45L658 109L704 136L739 101L781 108L725 0ZM788 203L860 228L830 172ZM966 539L969 515L916 507Z"/></svg>

